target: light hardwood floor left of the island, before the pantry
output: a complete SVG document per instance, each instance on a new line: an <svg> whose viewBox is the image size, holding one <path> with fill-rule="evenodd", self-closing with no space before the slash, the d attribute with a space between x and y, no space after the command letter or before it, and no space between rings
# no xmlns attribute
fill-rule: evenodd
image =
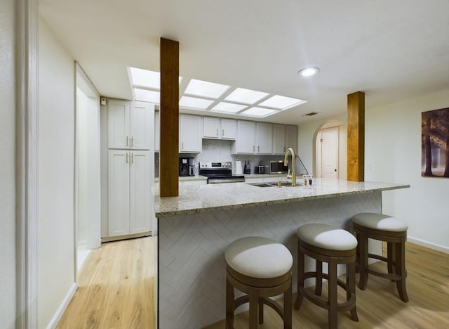
<svg viewBox="0 0 449 329"><path fill-rule="evenodd" d="M103 243L79 273L57 328L152 328L156 238Z"/></svg>

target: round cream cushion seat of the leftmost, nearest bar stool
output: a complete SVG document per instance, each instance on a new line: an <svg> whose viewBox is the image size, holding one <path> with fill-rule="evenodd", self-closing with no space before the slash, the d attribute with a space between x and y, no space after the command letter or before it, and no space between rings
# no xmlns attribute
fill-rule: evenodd
<svg viewBox="0 0 449 329"><path fill-rule="evenodd" d="M235 240L225 252L227 264L252 278L276 278L290 271L293 257L281 243L250 236Z"/></svg>

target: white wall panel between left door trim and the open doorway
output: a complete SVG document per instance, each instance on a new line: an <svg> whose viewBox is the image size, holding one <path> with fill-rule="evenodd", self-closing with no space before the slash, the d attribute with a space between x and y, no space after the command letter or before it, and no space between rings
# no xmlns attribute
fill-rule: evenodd
<svg viewBox="0 0 449 329"><path fill-rule="evenodd" d="M46 328L75 280L74 90L74 60L40 19L39 328Z"/></svg>

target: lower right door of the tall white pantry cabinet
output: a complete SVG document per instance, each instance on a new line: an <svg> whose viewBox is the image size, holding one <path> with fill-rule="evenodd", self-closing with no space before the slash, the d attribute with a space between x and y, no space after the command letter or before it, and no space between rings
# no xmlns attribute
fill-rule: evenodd
<svg viewBox="0 0 449 329"><path fill-rule="evenodd" d="M131 151L129 233L150 231L151 181L149 152Z"/></svg>

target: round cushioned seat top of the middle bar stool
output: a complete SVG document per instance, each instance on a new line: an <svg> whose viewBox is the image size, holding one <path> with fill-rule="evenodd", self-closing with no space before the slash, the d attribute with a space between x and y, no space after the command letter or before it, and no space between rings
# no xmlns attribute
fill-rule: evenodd
<svg viewBox="0 0 449 329"><path fill-rule="evenodd" d="M351 250L357 239L348 231L326 224L305 224L297 229L300 240L327 250Z"/></svg>

